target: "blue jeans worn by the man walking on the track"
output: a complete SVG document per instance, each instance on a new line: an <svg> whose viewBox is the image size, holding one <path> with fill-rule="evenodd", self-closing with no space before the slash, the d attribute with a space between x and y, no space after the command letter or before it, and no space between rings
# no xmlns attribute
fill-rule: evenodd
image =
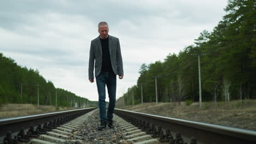
<svg viewBox="0 0 256 144"><path fill-rule="evenodd" d="M113 118L113 112L115 109L115 93L117 91L117 75L113 72L101 71L100 75L96 77L97 89L98 89L98 107L100 109L101 122L107 122L107 119ZM106 117L106 85L108 88L108 111Z"/></svg>

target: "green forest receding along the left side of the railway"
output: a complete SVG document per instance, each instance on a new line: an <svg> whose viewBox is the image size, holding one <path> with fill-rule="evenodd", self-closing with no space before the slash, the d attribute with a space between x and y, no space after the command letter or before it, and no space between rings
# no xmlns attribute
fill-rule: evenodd
<svg viewBox="0 0 256 144"><path fill-rule="evenodd" d="M0 68L0 104L37 105L38 96L39 105L74 107L77 103L78 107L83 107L96 103L65 89L56 88L38 70L20 67L14 59L4 57L3 53L0 53Z"/></svg>

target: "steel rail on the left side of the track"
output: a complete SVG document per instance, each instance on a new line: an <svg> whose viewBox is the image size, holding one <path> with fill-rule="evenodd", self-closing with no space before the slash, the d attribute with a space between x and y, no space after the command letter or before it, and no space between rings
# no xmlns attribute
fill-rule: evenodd
<svg viewBox="0 0 256 144"><path fill-rule="evenodd" d="M96 108L90 107L79 110L69 110L40 115L0 119L0 137L3 138L8 133L8 131L11 131L13 134L17 134L21 128L26 130L30 128L31 125L36 126L38 124L44 124L45 122L53 121L53 119L75 115L77 113L87 113L94 109Z"/></svg>

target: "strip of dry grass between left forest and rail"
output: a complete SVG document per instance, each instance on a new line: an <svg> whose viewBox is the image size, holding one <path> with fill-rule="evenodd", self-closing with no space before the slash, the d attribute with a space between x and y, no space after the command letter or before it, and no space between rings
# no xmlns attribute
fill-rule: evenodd
<svg viewBox="0 0 256 144"><path fill-rule="evenodd" d="M42 113L71 110L69 107L36 106L32 104L7 104L0 107L0 118L38 115Z"/></svg>

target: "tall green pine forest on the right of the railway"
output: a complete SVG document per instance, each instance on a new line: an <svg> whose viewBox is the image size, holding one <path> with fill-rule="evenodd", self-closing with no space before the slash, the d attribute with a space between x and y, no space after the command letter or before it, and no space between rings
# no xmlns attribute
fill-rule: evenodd
<svg viewBox="0 0 256 144"><path fill-rule="evenodd" d="M255 0L229 0L212 32L203 30L194 44L178 54L169 53L163 62L142 64L137 84L117 104L140 104L142 99L143 103L199 101L199 62L202 101L255 99L255 8Z"/></svg>

